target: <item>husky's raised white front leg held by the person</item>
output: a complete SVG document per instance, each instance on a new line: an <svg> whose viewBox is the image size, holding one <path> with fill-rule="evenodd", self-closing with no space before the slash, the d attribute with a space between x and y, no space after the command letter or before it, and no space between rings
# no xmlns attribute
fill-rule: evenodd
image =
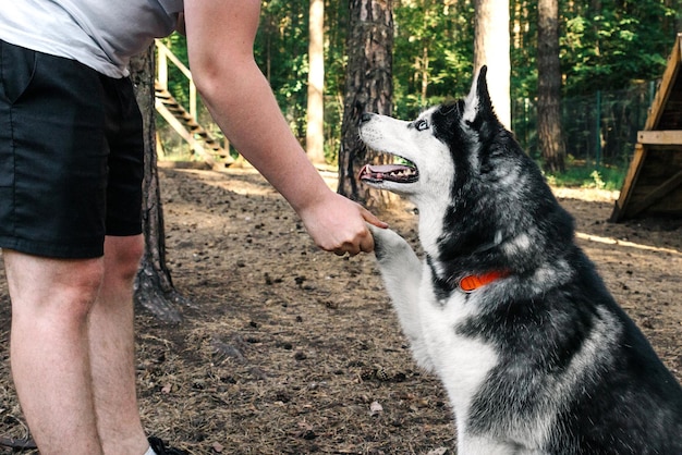
<svg viewBox="0 0 682 455"><path fill-rule="evenodd" d="M433 365L424 343L419 316L422 261L410 244L395 232L375 226L370 226L370 230L381 278L398 313L403 333L410 340L417 364L431 370Z"/></svg>

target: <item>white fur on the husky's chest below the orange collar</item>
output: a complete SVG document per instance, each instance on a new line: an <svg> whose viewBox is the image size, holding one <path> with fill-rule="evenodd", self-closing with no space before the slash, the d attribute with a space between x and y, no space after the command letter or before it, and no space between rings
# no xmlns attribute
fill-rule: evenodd
<svg viewBox="0 0 682 455"><path fill-rule="evenodd" d="M471 399L497 365L492 345L458 333L458 327L476 317L475 297L454 291L439 300L433 286L430 270L424 268L419 293L421 322L431 365L442 380L455 411L466 413Z"/></svg>

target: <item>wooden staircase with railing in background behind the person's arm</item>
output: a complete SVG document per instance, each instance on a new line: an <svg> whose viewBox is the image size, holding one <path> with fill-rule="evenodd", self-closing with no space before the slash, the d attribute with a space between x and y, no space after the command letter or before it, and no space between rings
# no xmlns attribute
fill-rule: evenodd
<svg viewBox="0 0 682 455"><path fill-rule="evenodd" d="M196 119L196 87L190 70L160 41L157 41L157 79L154 85L157 112L187 143L192 152L200 157L211 169L224 169L232 164L234 159L230 157L229 149L223 148ZM188 79L190 111L168 91L168 60L171 60Z"/></svg>

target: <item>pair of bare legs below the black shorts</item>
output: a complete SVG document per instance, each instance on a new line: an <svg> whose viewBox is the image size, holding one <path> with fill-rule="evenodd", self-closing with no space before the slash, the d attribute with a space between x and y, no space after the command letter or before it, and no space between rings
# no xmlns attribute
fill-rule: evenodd
<svg viewBox="0 0 682 455"><path fill-rule="evenodd" d="M144 454L132 284L142 236L107 237L103 259L5 250L12 376L42 455ZM103 447L103 451L102 451Z"/></svg>

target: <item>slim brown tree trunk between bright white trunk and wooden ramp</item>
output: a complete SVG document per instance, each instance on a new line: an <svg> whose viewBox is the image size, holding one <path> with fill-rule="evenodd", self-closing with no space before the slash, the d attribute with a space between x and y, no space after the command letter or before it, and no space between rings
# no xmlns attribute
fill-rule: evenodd
<svg viewBox="0 0 682 455"><path fill-rule="evenodd" d="M545 170L565 170L561 132L561 67L559 62L559 3L539 0L537 28L537 137Z"/></svg>

